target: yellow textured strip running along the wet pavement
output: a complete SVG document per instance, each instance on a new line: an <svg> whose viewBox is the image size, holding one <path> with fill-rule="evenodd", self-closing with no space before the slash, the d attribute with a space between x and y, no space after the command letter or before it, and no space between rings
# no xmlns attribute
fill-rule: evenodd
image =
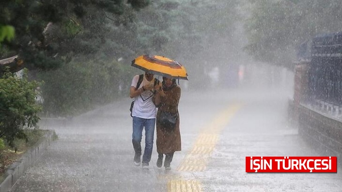
<svg viewBox="0 0 342 192"><path fill-rule="evenodd" d="M185 156L177 171L204 171L211 153L219 140L220 132L229 123L233 115L239 110L241 104L233 104L204 126L197 136L192 149ZM168 192L202 192L202 184L197 180L176 178L176 176L158 177L168 179Z"/></svg>

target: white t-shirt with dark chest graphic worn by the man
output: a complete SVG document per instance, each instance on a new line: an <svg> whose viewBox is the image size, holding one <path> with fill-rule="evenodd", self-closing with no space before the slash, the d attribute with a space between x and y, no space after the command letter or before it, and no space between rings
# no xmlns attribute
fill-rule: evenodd
<svg viewBox="0 0 342 192"><path fill-rule="evenodd" d="M132 79L131 86L137 88L139 80L139 74L135 75ZM138 89L142 88L144 85L154 84L155 78L152 81L147 81L145 75ZM135 102L133 105L132 116L138 118L155 118L157 110L155 104L152 102L153 92L151 90L145 90L140 95L134 98Z"/></svg>

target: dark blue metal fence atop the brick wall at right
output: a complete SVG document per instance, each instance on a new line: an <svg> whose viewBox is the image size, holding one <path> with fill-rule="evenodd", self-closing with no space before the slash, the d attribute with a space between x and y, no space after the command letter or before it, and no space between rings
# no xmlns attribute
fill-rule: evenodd
<svg viewBox="0 0 342 192"><path fill-rule="evenodd" d="M308 76L312 102L318 99L342 105L342 32L312 38Z"/></svg>

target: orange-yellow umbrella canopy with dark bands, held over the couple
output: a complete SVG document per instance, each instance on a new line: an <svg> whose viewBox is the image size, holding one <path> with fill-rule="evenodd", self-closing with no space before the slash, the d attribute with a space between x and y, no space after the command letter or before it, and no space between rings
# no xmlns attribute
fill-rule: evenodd
<svg viewBox="0 0 342 192"><path fill-rule="evenodd" d="M142 55L132 60L132 66L151 74L188 80L187 70L183 65L163 56Z"/></svg>

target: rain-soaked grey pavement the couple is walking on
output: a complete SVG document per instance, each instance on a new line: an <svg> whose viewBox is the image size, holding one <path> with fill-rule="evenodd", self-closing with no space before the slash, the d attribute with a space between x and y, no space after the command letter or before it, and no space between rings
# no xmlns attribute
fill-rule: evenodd
<svg viewBox="0 0 342 192"><path fill-rule="evenodd" d="M246 156L320 156L287 118L288 92L183 91L182 151L171 171L133 165L129 99L67 122L42 122L59 140L29 168L13 192L342 191L342 174L254 174ZM143 137L144 139L144 137Z"/></svg>

